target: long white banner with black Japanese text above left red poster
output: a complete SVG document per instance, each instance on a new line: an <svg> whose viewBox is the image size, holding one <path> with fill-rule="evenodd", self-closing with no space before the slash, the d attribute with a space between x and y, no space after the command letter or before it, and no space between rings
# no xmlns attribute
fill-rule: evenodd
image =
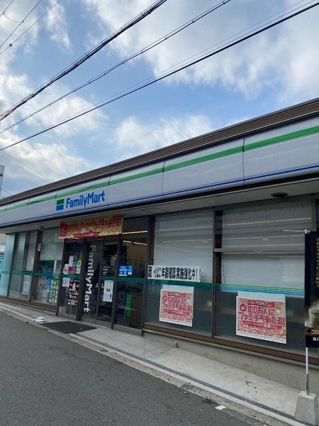
<svg viewBox="0 0 319 426"><path fill-rule="evenodd" d="M200 283L201 268L199 268L199 266L150 265L147 270L147 278L155 280L194 281L194 283Z"/></svg>

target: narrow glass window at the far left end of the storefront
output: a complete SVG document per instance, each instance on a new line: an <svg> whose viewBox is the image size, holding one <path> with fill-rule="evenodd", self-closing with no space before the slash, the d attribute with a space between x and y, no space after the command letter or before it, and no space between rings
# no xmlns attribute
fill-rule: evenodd
<svg viewBox="0 0 319 426"><path fill-rule="evenodd" d="M13 251L9 297L29 300L38 231L19 232Z"/></svg>

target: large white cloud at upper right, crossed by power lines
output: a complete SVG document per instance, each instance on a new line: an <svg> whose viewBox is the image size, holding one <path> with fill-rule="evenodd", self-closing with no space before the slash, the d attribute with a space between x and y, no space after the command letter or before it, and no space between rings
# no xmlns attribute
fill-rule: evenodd
<svg viewBox="0 0 319 426"><path fill-rule="evenodd" d="M150 5L150 1L84 0L103 32L110 31ZM231 1L167 42L142 55L155 75L180 60L196 55L238 31L283 11L294 0ZM121 58L133 53L212 6L211 1L168 1L138 25L119 36L111 48ZM301 6L301 4L298 4ZM292 9L290 9L292 10ZM319 8L262 33L242 45L203 61L167 80L168 84L205 84L240 92L247 98L275 89L279 101L298 102L319 90Z"/></svg>

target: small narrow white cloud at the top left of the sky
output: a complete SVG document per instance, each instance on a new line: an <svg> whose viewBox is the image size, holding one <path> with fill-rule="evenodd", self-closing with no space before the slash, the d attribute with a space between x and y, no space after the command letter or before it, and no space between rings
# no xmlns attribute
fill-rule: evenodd
<svg viewBox="0 0 319 426"><path fill-rule="evenodd" d="M56 0L50 0L50 6L55 4ZM61 3L56 4L46 15L47 31L50 33L51 40L62 45L63 48L69 50L72 43L69 40L67 32L67 16L65 8Z"/></svg>

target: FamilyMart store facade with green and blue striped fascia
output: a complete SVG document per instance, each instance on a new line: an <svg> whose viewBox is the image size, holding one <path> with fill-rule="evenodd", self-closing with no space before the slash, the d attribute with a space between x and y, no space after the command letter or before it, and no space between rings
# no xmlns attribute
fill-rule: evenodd
<svg viewBox="0 0 319 426"><path fill-rule="evenodd" d="M243 359L303 360L318 100L0 204L1 297Z"/></svg>

